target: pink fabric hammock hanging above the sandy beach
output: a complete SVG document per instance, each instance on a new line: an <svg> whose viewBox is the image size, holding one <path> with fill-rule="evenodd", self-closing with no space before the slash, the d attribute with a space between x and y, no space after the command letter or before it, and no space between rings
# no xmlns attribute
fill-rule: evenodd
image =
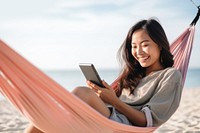
<svg viewBox="0 0 200 133"><path fill-rule="evenodd" d="M190 26L171 45L175 67L183 73L184 79L194 31L195 27ZM147 133L156 129L128 126L105 118L2 41L0 92L37 128L47 133Z"/></svg>

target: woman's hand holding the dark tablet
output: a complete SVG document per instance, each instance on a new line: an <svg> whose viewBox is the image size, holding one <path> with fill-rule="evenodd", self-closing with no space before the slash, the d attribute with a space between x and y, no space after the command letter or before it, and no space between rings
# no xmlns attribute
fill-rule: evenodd
<svg viewBox="0 0 200 133"><path fill-rule="evenodd" d="M87 85L96 92L97 96L99 96L105 103L113 105L118 100L114 89L104 80L102 80L102 84L105 88L99 87L98 85L87 81Z"/></svg>

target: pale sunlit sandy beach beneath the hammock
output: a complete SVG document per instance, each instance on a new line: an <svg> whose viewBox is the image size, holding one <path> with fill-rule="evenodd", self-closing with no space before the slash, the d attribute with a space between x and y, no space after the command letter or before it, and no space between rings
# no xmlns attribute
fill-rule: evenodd
<svg viewBox="0 0 200 133"><path fill-rule="evenodd" d="M200 133L200 88L184 89L177 112L155 133ZM0 133L23 133L29 122L6 100L0 101Z"/></svg>

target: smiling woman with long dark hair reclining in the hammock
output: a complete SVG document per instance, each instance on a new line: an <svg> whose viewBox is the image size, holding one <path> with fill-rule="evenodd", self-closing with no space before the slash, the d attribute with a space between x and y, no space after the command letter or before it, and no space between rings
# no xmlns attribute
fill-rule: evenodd
<svg viewBox="0 0 200 133"><path fill-rule="evenodd" d="M87 81L89 87L77 87L73 93L111 120L160 126L178 108L182 92L181 74L172 67L173 56L162 26L154 19L136 23L119 55L123 70L116 91L105 81L105 88ZM31 127L27 132L36 130Z"/></svg>

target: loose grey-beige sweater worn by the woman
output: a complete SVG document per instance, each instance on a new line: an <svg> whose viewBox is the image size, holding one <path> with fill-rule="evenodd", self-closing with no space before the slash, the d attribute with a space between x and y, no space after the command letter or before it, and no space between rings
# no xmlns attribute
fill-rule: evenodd
<svg viewBox="0 0 200 133"><path fill-rule="evenodd" d="M137 110L148 107L153 126L160 126L179 106L183 89L181 77L181 73L172 67L153 72L140 81L134 94L123 89L120 99Z"/></svg>

